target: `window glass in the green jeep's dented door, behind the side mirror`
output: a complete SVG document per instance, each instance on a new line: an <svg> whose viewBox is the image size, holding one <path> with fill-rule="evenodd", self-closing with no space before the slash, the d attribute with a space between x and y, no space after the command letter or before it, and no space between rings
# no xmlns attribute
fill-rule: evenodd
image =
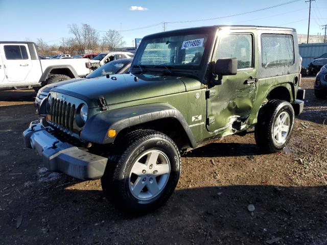
<svg viewBox="0 0 327 245"><path fill-rule="evenodd" d="M216 59L237 58L238 69L251 68L253 60L252 39L251 34L230 34L221 37Z"/></svg>

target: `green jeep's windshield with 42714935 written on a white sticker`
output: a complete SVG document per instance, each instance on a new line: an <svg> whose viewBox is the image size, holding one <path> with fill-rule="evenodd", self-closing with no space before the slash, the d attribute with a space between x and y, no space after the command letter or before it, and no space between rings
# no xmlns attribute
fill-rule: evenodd
<svg viewBox="0 0 327 245"><path fill-rule="evenodd" d="M142 40L133 65L197 68L208 40L207 34L153 37Z"/></svg>

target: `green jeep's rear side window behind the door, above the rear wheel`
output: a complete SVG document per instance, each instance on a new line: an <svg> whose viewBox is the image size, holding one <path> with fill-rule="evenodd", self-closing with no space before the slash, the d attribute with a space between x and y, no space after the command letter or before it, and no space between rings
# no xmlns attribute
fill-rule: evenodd
<svg viewBox="0 0 327 245"><path fill-rule="evenodd" d="M261 64L265 68L294 64L292 35L262 34Z"/></svg>

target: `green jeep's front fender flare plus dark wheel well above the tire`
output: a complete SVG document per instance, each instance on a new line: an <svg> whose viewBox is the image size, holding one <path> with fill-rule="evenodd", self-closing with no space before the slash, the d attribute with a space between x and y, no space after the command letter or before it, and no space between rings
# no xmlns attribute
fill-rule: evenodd
<svg viewBox="0 0 327 245"><path fill-rule="evenodd" d="M116 136L107 135L109 129ZM152 129L167 134L181 148L196 148L193 133L182 113L166 103L132 106L98 113L86 121L81 139L99 144L113 143L117 138L136 129ZM185 146L185 147L184 147Z"/></svg>

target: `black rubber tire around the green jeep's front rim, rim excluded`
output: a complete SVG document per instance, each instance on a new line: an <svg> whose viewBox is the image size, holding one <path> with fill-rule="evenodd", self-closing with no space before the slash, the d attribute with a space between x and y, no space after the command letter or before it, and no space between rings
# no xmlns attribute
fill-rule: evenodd
<svg viewBox="0 0 327 245"><path fill-rule="evenodd" d="M129 178L134 162L149 151L160 151L167 156L170 173L166 184L155 197L140 200L132 193ZM108 158L101 185L107 199L112 200L116 207L133 214L142 214L160 207L169 199L178 183L181 167L179 150L170 137L153 130L136 130L121 137L112 152L114 155ZM141 178L146 176L148 173ZM140 193L144 190L142 188Z"/></svg>

